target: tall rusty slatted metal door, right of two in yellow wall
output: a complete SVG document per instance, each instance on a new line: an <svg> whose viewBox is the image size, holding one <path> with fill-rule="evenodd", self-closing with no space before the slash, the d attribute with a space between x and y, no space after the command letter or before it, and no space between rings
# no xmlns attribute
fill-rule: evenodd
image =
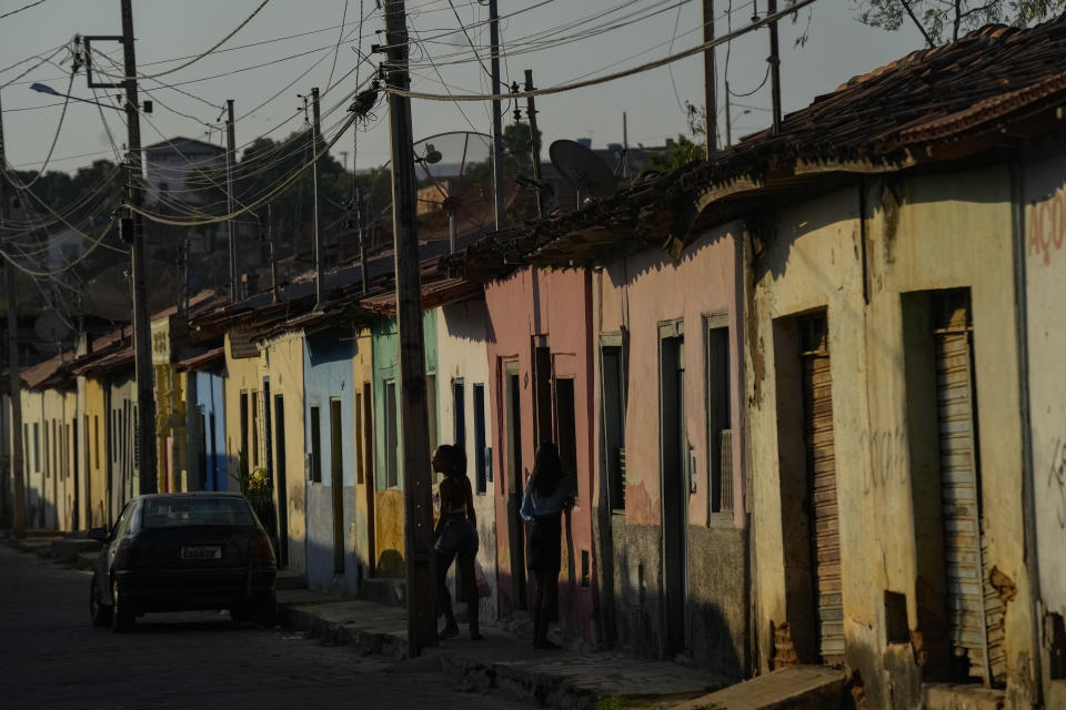
<svg viewBox="0 0 1066 710"><path fill-rule="evenodd" d="M952 653L958 659L957 676L998 684L1006 679L1003 610L989 580L980 514L968 294L948 292L937 311L936 402Z"/></svg>

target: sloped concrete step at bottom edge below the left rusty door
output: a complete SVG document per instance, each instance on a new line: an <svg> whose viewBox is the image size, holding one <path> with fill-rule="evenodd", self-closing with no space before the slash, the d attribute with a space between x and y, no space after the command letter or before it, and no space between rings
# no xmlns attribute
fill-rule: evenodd
<svg viewBox="0 0 1066 710"><path fill-rule="evenodd" d="M845 677L826 666L793 666L694 700L672 710L831 710L843 707Z"/></svg>

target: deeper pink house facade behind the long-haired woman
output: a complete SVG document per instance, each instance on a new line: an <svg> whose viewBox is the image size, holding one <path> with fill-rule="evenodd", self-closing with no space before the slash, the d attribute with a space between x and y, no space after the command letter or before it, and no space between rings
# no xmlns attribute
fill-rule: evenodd
<svg viewBox="0 0 1066 710"><path fill-rule="evenodd" d="M500 613L515 608L512 591L511 529L509 496L522 490L507 480L506 419L503 392L504 363L517 361L522 410L522 478L533 465L535 449L533 412L533 336L547 336L555 376L573 376L577 449L577 505L571 516L572 551L564 542L560 575L560 611L567 626L593 641L596 562L593 559L593 349L592 292L586 271L546 272L525 268L510 278L485 287L489 308L489 366L492 382L493 471L497 526L496 554L500 569ZM581 551L590 558L590 584L581 585ZM572 555L572 557L570 557ZM570 562L570 565L567 565Z"/></svg>

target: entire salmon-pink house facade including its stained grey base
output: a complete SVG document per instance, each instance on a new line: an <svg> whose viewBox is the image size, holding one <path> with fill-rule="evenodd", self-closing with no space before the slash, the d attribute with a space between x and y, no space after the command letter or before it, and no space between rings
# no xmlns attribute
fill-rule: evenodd
<svg viewBox="0 0 1066 710"><path fill-rule="evenodd" d="M714 229L673 262L658 250L609 264L593 275L593 311L599 334L625 334L625 498L624 508L596 515L610 525L613 541L610 585L617 642L645 656L667 653L663 620L663 475L660 464L658 324L684 323L686 422L695 460L695 490L687 495L687 647L695 662L738 677L746 656L743 467L742 282L737 276L738 225ZM733 498L712 509L707 429L707 341L710 323L728 327L733 430ZM596 347L596 386L603 386ZM602 395L601 395L602 396ZM596 422L602 426L602 412ZM597 429L596 501L609 505L604 436ZM685 494L683 494L685 495ZM614 501L615 504L617 501ZM735 513L734 513L735 511ZM612 550L613 547L613 550Z"/></svg>

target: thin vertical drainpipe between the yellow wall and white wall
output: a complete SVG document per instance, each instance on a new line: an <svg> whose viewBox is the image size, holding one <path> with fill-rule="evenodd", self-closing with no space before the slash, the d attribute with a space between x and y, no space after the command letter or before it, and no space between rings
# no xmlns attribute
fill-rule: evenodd
<svg viewBox="0 0 1066 710"><path fill-rule="evenodd" d="M1036 478L1033 470L1032 422L1029 417L1028 303L1025 272L1025 174L1019 163L1010 165L1010 235L1014 246L1015 334L1018 346L1018 394L1022 406L1022 510L1025 520L1025 574L1029 580L1029 613L1033 635L1034 707L1044 706L1043 602L1037 559Z"/></svg>

